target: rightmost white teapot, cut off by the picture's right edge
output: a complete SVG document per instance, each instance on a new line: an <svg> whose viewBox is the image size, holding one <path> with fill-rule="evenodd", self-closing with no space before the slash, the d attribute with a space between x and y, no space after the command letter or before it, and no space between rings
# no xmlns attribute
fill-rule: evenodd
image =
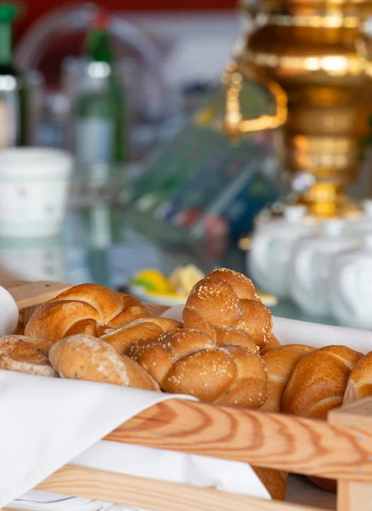
<svg viewBox="0 0 372 511"><path fill-rule="evenodd" d="M335 258L330 307L342 326L372 329L372 233L365 235L363 247Z"/></svg>

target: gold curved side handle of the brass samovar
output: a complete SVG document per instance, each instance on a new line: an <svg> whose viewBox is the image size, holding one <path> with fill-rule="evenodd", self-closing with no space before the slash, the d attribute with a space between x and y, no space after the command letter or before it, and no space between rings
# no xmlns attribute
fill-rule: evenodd
<svg viewBox="0 0 372 511"><path fill-rule="evenodd" d="M243 134L253 131L278 128L286 122L287 117L287 96L279 83L271 80L251 62L245 62L244 69L243 77L238 70L238 63L231 61L223 74L223 84L226 88L224 126L226 134L232 139L240 138ZM272 93L276 105L275 114L264 114L250 119L243 117L240 109L240 90L245 78L251 79Z"/></svg>

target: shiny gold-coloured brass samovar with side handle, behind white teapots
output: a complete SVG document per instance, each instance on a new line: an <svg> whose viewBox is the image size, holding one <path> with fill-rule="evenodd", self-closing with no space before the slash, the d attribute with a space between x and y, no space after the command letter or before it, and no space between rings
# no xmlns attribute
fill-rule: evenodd
<svg viewBox="0 0 372 511"><path fill-rule="evenodd" d="M280 128L275 148L291 183L303 186L299 200L317 216L351 211L345 189L371 131L372 1L262 0L257 12L245 10L254 25L224 76L228 136ZM269 90L274 112L244 118L245 80Z"/></svg>

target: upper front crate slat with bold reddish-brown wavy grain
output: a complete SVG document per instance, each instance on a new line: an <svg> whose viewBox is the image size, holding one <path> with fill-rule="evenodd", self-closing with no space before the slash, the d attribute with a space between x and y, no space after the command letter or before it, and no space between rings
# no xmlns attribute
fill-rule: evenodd
<svg viewBox="0 0 372 511"><path fill-rule="evenodd" d="M172 399L106 440L351 481L372 481L372 434L325 421Z"/></svg>

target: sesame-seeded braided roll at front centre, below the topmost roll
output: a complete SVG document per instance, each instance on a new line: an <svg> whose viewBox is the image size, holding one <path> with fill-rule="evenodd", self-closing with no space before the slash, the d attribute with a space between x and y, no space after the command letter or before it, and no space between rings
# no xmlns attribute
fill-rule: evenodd
<svg viewBox="0 0 372 511"><path fill-rule="evenodd" d="M220 344L204 331L175 329L141 339L126 354L165 392L258 408L267 397L267 369L257 346L244 332L221 328L216 336Z"/></svg>

